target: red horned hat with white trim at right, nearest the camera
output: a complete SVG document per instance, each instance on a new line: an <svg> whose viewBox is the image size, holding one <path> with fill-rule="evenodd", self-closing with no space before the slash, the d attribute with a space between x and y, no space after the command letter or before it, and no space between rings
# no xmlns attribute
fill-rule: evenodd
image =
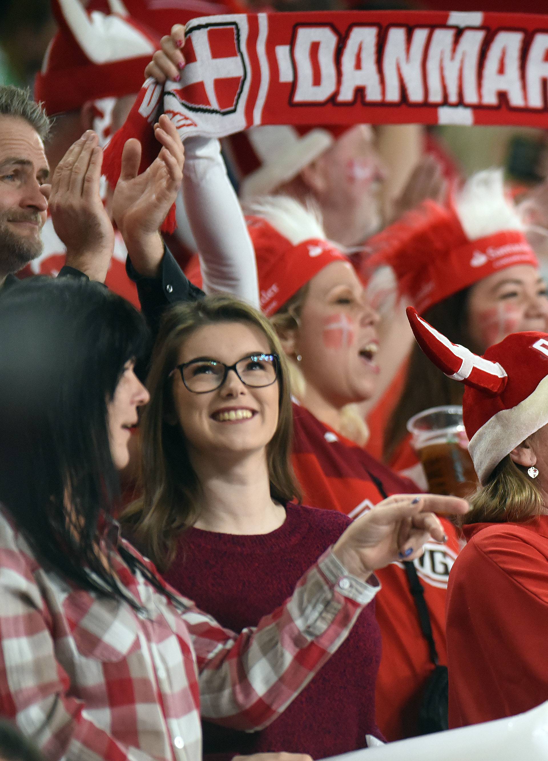
<svg viewBox="0 0 548 761"><path fill-rule="evenodd" d="M507 454L548 423L548 333L511 333L479 357L451 343L413 307L407 317L425 355L448 377L466 384L468 451L485 485Z"/></svg>

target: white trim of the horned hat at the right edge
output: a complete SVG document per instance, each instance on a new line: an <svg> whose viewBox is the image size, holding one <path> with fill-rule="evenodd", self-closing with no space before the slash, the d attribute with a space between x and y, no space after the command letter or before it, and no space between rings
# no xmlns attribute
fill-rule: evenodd
<svg viewBox="0 0 548 761"><path fill-rule="evenodd" d="M548 423L548 375L522 402L496 412L470 439L468 451L485 486L495 466L512 449Z"/></svg>

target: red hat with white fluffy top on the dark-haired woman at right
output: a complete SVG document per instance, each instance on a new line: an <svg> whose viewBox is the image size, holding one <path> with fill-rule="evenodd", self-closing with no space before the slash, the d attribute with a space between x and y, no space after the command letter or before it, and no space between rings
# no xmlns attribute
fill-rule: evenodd
<svg viewBox="0 0 548 761"><path fill-rule="evenodd" d="M389 274L419 314L494 272L538 267L499 170L471 177L450 208L423 202L371 237L364 253L359 272L369 291L376 280L385 288Z"/></svg>

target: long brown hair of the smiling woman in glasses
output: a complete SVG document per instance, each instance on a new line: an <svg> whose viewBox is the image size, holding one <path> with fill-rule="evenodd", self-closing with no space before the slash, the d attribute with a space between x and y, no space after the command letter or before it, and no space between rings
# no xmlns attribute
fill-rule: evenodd
<svg viewBox="0 0 548 761"><path fill-rule="evenodd" d="M270 494L282 504L301 498L290 459L293 417L287 361L269 320L231 296L177 304L162 320L148 374L151 400L142 417L142 496L122 516L132 540L162 571L174 559L180 533L196 521L201 495L183 431L174 424L170 372L185 340L200 327L216 323L256 326L266 336L270 350L279 355L279 419L266 449Z"/></svg>

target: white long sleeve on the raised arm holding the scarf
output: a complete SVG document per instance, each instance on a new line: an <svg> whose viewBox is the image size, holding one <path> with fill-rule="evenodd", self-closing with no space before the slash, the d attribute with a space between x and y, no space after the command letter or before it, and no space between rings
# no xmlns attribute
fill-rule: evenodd
<svg viewBox="0 0 548 761"><path fill-rule="evenodd" d="M203 290L231 293L258 309L255 252L221 145L216 139L193 137L184 147L183 197L198 244Z"/></svg>

